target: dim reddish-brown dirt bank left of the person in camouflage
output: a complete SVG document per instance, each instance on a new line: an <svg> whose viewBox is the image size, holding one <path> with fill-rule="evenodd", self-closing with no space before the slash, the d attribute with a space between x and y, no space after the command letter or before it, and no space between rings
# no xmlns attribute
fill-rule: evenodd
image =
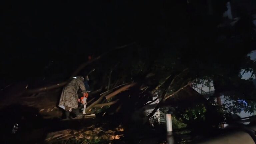
<svg viewBox="0 0 256 144"><path fill-rule="evenodd" d="M26 83L17 83L0 92L0 109L9 105L23 105L38 109L43 118L60 118L62 111L57 107L61 88L36 94L26 94Z"/></svg>

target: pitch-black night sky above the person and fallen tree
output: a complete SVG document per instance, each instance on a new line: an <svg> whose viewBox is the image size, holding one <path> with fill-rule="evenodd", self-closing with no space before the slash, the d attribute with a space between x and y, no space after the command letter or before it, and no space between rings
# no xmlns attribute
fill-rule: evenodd
<svg viewBox="0 0 256 144"><path fill-rule="evenodd" d="M88 55L132 42L150 48L167 36L176 41L179 33L172 34L168 26L175 31L186 26L180 22L186 18L180 15L186 13L187 0L175 2L5 1L1 4L0 81L41 76L50 61L61 63L62 70L69 69L68 63L77 67ZM207 11L203 4L193 12Z"/></svg>

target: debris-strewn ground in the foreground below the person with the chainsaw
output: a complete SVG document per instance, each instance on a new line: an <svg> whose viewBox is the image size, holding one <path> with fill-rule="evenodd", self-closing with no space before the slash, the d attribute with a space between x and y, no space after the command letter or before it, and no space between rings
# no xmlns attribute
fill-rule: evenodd
<svg viewBox="0 0 256 144"><path fill-rule="evenodd" d="M102 117L96 114L96 118L63 120L62 111L56 107L61 89L23 94L24 86L15 84L2 91L0 139L3 144L153 144L165 139L164 128L154 129L148 123L136 124L123 115L106 114ZM20 91L17 91L19 87Z"/></svg>

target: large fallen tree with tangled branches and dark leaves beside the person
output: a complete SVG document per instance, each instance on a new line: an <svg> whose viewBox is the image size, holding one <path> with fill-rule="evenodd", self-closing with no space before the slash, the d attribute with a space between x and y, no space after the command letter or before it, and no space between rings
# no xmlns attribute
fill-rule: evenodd
<svg viewBox="0 0 256 144"><path fill-rule="evenodd" d="M218 11L222 13L223 9ZM86 109L87 112L93 107L124 102L122 98L129 97L129 94L124 94L119 100L116 100L114 96L121 92L125 93L125 90L135 86L135 83L137 87L142 89L133 93L134 95L137 96L144 92L149 93L145 94L144 97L141 96L143 98L133 98L134 103L139 103L138 107L141 108L147 105L146 98L158 95L158 99L161 99L148 118L165 101L197 79L206 77L212 79L218 93L227 89L234 89L232 86L234 82L236 82L236 88L240 86L241 81L237 78L241 68L245 69L255 65L247 58L247 54L253 50L251 47L253 27L242 30L241 35L233 35L233 31L236 31L239 27L250 25L251 21L241 19L240 22L235 24L236 27L228 26L219 29L219 23L221 23L219 18L221 16L217 15L217 12L210 19L207 18L208 15L202 17L192 13L182 13L181 15L184 17L178 18L180 23L184 24L184 27L176 29L177 23L170 23L170 26L166 29L171 33L167 34L168 40L162 41L162 39L154 37L152 42L149 41L150 44L139 43L129 50L124 48L134 45L134 43L112 49L91 61L81 64L72 73L71 78L79 74L89 64L108 56L108 58L101 61L98 67L96 66L96 69L101 72L94 76L95 81L101 85L102 89L99 91L106 90L106 92L89 101L88 104L90 105ZM204 21L204 24L187 19L187 15ZM229 31L230 29L233 31ZM198 34L198 31L201 33ZM223 35L225 39L222 40ZM119 51L119 49L122 49L122 51ZM234 49L232 55L230 54L231 49ZM148 77L148 74L152 75ZM65 86L68 81L39 89L28 89L27 92L36 93L60 88ZM124 83L128 84L115 90L116 85ZM245 89L241 93L250 97L250 92L245 91ZM137 108L137 105L135 107Z"/></svg>

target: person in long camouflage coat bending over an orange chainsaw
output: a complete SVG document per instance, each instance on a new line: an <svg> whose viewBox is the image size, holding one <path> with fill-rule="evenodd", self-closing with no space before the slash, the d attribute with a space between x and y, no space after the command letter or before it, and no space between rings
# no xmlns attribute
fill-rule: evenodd
<svg viewBox="0 0 256 144"><path fill-rule="evenodd" d="M72 109L78 108L78 90L79 88L86 93L84 77L74 77L62 90L59 107L66 111L66 117L70 118Z"/></svg>

